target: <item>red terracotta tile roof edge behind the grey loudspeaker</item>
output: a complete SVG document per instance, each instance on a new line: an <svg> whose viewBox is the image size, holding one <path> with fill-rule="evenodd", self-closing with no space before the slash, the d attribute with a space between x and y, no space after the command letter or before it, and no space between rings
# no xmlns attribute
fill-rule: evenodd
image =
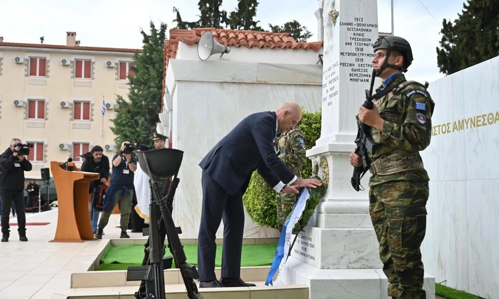
<svg viewBox="0 0 499 299"><path fill-rule="evenodd" d="M253 30L232 30L232 29L216 29L216 28L194 28L189 29L171 29L170 39L165 43L165 56L163 63L163 94L166 85L166 70L170 58L175 58L179 42L183 42L188 46L195 45L199 42L201 34L207 30L213 33L215 40L225 46L236 48L269 48L269 49L292 49L292 50L312 50L319 51L322 48L323 41L316 42L296 42L294 38L289 36L289 33L274 33L265 31ZM163 103L163 101L161 101ZM163 104L162 108L163 108Z"/></svg>

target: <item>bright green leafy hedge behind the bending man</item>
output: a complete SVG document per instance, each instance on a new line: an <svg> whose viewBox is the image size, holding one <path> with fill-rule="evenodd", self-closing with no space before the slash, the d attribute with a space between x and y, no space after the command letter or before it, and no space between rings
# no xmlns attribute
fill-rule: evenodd
<svg viewBox="0 0 499 299"><path fill-rule="evenodd" d="M301 112L301 121L298 124L305 134L306 149L315 146L315 141L320 137L321 113ZM303 177L312 175L312 161L309 159L301 168ZM277 211L275 208L275 191L270 188L261 176L254 171L251 175L250 185L243 196L246 211L254 222L262 226L277 228Z"/></svg>

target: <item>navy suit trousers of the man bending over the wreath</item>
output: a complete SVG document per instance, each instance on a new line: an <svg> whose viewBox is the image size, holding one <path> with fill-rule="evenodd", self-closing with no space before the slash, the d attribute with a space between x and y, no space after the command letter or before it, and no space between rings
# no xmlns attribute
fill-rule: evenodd
<svg viewBox="0 0 499 299"><path fill-rule="evenodd" d="M203 206L198 235L199 281L209 282L215 276L216 233L224 220L222 278L238 278L241 272L241 250L245 213L241 192L230 195L203 170Z"/></svg>

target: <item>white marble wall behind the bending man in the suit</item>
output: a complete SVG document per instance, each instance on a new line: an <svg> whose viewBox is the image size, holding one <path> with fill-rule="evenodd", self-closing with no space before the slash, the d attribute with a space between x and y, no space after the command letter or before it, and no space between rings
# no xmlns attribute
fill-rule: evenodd
<svg viewBox="0 0 499 299"><path fill-rule="evenodd" d="M216 77L216 75L214 75ZM179 78L178 76L176 78ZM174 216L183 238L197 238L201 215L201 168L198 163L243 118L273 111L296 101L307 111L320 108L320 69L316 85L177 81L173 95L173 148L184 150ZM223 235L223 224L217 237ZM246 215L245 237L278 237Z"/></svg>

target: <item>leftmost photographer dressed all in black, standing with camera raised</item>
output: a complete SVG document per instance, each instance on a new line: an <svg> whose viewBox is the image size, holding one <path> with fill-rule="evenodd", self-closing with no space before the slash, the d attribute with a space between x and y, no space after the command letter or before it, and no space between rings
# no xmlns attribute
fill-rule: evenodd
<svg viewBox="0 0 499 299"><path fill-rule="evenodd" d="M24 171L30 171L31 163L25 156L29 154L27 145L14 138L8 149L0 155L0 197L1 197L1 242L8 242L10 226L9 212L12 202L17 211L17 232L19 241L27 241L26 215L24 214Z"/></svg>

